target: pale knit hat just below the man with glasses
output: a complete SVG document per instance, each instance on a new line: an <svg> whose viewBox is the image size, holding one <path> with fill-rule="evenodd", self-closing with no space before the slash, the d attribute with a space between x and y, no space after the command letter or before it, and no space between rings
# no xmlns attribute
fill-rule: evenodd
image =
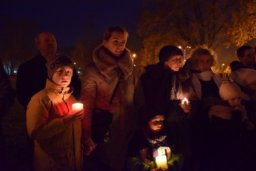
<svg viewBox="0 0 256 171"><path fill-rule="evenodd" d="M246 87L256 81L256 71L248 68L240 68L231 72L229 78L242 87Z"/></svg>

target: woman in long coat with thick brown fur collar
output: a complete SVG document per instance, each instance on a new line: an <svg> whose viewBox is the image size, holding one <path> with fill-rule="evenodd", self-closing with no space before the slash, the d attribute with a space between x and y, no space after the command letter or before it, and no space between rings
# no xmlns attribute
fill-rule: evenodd
<svg viewBox="0 0 256 171"><path fill-rule="evenodd" d="M81 88L81 103L85 110L81 141L85 145L84 153L89 155L92 152L89 157L95 159L98 170L124 168L127 145L137 129L138 111L145 103L138 72L130 51L125 48L127 38L124 28L109 27L102 44L93 53L94 62L85 67ZM109 106L119 78L120 84ZM108 107L113 114L112 137L108 143L94 142L91 133L94 109Z"/></svg>

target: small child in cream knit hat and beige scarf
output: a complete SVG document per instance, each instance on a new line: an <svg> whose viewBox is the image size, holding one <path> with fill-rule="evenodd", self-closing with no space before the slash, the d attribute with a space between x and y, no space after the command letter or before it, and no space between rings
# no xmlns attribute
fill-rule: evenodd
<svg viewBox="0 0 256 171"><path fill-rule="evenodd" d="M220 161L217 169L246 170L246 132L254 129L241 105L244 93L234 82L225 82L219 88L223 105L212 106L209 117L212 121L214 158ZM224 170L225 170L224 169Z"/></svg>

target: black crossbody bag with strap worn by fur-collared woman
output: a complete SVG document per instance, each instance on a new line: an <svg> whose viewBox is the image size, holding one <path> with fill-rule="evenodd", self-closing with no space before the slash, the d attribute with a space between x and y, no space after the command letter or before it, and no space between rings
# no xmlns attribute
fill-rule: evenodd
<svg viewBox="0 0 256 171"><path fill-rule="evenodd" d="M114 99L119 84L120 79L116 83L113 95L109 102L109 106L112 104L112 100ZM93 113L93 123L91 124L91 131L93 133L94 142L108 143L111 139L111 123L113 120L113 114L109 111L109 106L106 110L100 108L94 109L95 112Z"/></svg>

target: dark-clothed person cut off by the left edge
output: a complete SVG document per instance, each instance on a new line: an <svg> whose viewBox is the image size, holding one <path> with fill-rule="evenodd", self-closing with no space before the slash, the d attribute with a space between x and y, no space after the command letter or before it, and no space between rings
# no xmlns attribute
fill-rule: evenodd
<svg viewBox="0 0 256 171"><path fill-rule="evenodd" d="M15 90L3 69L3 63L0 60L0 119L9 111L14 103L14 98ZM5 164L4 137L0 120L0 168L5 168Z"/></svg>

